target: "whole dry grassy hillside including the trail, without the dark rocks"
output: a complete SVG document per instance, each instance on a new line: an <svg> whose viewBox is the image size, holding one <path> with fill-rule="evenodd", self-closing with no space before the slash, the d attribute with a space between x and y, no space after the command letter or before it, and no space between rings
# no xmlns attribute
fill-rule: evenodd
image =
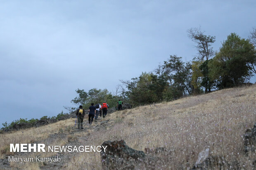
<svg viewBox="0 0 256 170"><path fill-rule="evenodd" d="M15 153L15 157L59 156L60 162L8 162L10 143L52 145L101 145L124 140L136 150L163 147L156 153L153 169L193 168L199 152L209 148L209 156L225 160L225 168L254 169L255 154L244 154L243 135L256 122L256 86L229 88L190 96L172 102L146 105L107 114L84 129L74 128L75 119L38 128L0 134L0 169L102 169L98 152ZM219 160L219 161L220 161ZM147 164L147 163L145 163ZM217 165L216 165L217 166ZM146 167L146 166L145 166ZM137 169L144 169L139 165ZM149 168L149 167L147 167Z"/></svg>

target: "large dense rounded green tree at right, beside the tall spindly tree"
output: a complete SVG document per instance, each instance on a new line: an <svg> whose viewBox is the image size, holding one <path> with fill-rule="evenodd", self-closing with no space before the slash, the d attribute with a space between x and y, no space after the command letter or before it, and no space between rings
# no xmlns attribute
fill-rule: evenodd
<svg viewBox="0 0 256 170"><path fill-rule="evenodd" d="M248 62L255 56L254 47L249 40L235 33L228 35L220 51L209 62L209 76L218 81L219 88L241 85L251 77Z"/></svg>

